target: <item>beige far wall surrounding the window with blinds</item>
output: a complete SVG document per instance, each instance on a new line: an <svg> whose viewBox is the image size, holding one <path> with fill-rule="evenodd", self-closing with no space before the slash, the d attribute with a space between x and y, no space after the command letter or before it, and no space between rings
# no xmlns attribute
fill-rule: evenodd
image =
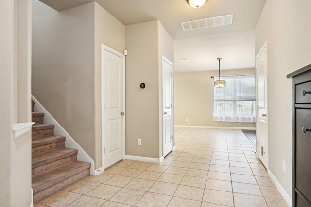
<svg viewBox="0 0 311 207"><path fill-rule="evenodd" d="M221 70L221 75L238 74L255 74L255 70ZM213 75L218 75L218 71L174 74L175 125L255 127L255 123L213 121L214 80L211 78Z"/></svg>

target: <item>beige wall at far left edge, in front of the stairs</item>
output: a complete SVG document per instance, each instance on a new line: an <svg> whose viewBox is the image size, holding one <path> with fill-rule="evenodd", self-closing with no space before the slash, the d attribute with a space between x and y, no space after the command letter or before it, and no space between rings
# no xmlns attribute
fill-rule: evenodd
<svg viewBox="0 0 311 207"><path fill-rule="evenodd" d="M31 121L31 0L0 3L0 203L29 207L31 132L13 139L13 124Z"/></svg>

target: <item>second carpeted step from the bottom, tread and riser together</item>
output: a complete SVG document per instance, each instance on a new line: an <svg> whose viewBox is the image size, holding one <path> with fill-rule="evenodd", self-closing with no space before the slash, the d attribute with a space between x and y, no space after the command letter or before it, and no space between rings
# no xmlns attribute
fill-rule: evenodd
<svg viewBox="0 0 311 207"><path fill-rule="evenodd" d="M32 175L77 161L77 149L62 148L32 156Z"/></svg>

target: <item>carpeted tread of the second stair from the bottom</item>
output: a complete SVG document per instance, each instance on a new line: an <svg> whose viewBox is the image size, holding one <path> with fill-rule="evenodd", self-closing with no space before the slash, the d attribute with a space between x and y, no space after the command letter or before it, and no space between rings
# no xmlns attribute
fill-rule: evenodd
<svg viewBox="0 0 311 207"><path fill-rule="evenodd" d="M78 153L77 149L63 148L32 156L32 169Z"/></svg>

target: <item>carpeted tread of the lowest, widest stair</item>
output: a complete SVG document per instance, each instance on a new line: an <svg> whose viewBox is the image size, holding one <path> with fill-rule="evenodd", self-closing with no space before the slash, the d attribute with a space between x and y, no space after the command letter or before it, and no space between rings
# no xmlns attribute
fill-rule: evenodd
<svg viewBox="0 0 311 207"><path fill-rule="evenodd" d="M55 168L48 172L35 175L32 177L32 188L34 194L38 191L42 191L52 185L55 185L63 180L68 179L69 177L78 174L88 168L91 164L88 162L71 162L62 167ZM61 191L62 189L59 189Z"/></svg>

